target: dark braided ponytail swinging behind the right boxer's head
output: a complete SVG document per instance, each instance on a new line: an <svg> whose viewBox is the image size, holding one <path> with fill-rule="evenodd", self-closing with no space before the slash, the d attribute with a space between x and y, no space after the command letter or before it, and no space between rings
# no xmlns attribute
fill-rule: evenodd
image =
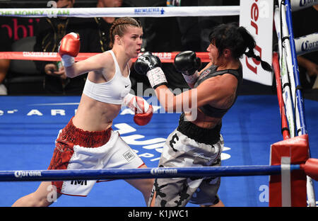
<svg viewBox="0 0 318 221"><path fill-rule="evenodd" d="M247 52L244 52L244 54L247 57L252 57L255 60L261 62L261 67L268 71L268 72L272 72L273 69L271 69L271 65L267 62L264 62L263 60L261 60L261 57L259 57L258 55L255 55L254 53L254 47L256 46L256 42L253 38L253 36L242 26L240 26L239 28L237 28L238 32L242 35L242 38L246 44L246 48L248 48L249 50Z"/></svg>

